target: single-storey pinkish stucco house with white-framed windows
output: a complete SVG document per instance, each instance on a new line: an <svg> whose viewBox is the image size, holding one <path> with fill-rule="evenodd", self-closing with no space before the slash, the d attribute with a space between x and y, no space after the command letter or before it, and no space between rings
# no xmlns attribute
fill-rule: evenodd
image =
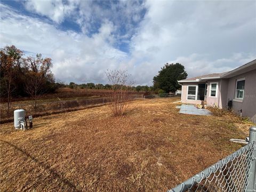
<svg viewBox="0 0 256 192"><path fill-rule="evenodd" d="M256 123L256 59L226 73L208 74L178 81L182 85L181 102L229 106L237 114ZM231 100L231 102L230 102Z"/></svg>

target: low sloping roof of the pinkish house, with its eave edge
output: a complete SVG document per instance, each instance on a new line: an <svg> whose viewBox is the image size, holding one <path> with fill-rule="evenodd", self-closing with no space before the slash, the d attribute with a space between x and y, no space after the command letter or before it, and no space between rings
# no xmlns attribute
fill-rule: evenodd
<svg viewBox="0 0 256 192"><path fill-rule="evenodd" d="M250 61L246 63L245 65L242 65L234 70L224 72L224 73L214 73L214 74L207 74L207 75L202 75L202 76L197 76L197 77L191 77L191 78L186 78L183 80L178 81L179 83L184 83L184 82L203 82L206 81L206 79L220 79L220 78L230 78L234 77L239 74L246 73L248 71L256 69L256 59L253 61Z"/></svg>

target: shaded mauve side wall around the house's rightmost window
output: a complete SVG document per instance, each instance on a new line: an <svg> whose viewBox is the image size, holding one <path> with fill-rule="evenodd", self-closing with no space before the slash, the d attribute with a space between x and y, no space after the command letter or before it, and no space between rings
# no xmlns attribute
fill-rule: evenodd
<svg viewBox="0 0 256 192"><path fill-rule="evenodd" d="M235 99L236 81L245 77L244 99L238 101ZM242 115L251 117L252 122L256 123L256 70L229 78L227 99L233 99L234 112L239 114L242 109Z"/></svg>

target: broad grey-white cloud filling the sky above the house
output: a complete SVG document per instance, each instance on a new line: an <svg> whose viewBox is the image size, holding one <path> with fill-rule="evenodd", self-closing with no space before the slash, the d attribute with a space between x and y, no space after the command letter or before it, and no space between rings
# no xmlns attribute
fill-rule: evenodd
<svg viewBox="0 0 256 192"><path fill-rule="evenodd" d="M168 61L182 63L189 77L234 69L256 58L255 6L147 1L147 14L132 37L132 57L144 59L138 66L150 63L151 77Z"/></svg>

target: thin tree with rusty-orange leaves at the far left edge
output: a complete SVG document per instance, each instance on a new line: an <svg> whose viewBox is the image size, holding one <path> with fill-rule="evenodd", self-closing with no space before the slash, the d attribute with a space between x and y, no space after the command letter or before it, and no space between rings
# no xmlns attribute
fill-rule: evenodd
<svg viewBox="0 0 256 192"><path fill-rule="evenodd" d="M15 90L15 86L12 85L15 67L20 65L21 57L23 53L17 49L14 45L6 46L0 50L1 60L1 85L2 90L7 95L7 107L10 109L12 92Z"/></svg>

